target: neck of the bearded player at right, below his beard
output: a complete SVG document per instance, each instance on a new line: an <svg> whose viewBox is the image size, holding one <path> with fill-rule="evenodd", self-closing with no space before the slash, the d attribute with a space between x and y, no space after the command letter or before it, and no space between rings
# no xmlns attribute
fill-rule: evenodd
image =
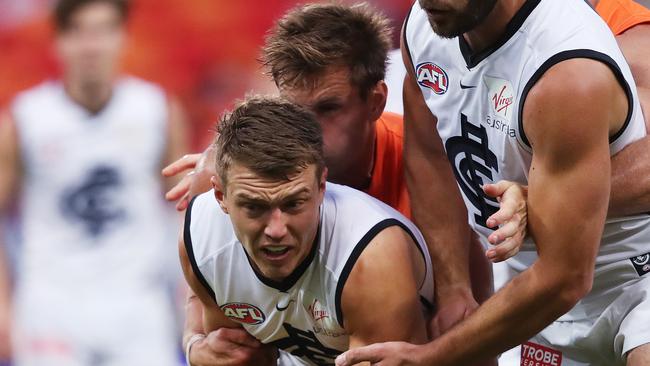
<svg viewBox="0 0 650 366"><path fill-rule="evenodd" d="M463 34L473 53L490 47L501 38L506 26L526 0L499 0L481 24Z"/></svg>

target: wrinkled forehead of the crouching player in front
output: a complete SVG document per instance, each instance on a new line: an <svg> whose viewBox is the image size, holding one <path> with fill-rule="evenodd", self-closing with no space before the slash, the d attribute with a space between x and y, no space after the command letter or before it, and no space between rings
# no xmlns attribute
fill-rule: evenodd
<svg viewBox="0 0 650 366"><path fill-rule="evenodd" d="M237 200L275 202L307 197L317 187L315 172L316 166L311 164L289 174L288 179L282 179L266 177L241 164L234 164L228 172L227 191Z"/></svg>

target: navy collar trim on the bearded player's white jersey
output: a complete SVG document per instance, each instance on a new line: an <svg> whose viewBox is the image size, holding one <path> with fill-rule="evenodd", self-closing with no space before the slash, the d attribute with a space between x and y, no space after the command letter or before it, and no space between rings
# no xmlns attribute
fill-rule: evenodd
<svg viewBox="0 0 650 366"><path fill-rule="evenodd" d="M528 16L535 10L537 5L541 0L527 0L521 8L517 11L517 13L510 19L510 22L508 22L508 25L506 25L506 30L505 33L499 38L498 41L496 41L494 44L489 46L488 48L477 52L473 53L471 47L467 43L467 40L465 40L465 37L461 34L458 36L458 46L460 47L460 53L463 55L463 58L465 59L465 63L467 64L467 68L471 69L478 65L481 61L485 60L493 54L496 50L501 48L506 42L512 38L512 36L519 31L519 28L524 24L526 19L528 19Z"/></svg>

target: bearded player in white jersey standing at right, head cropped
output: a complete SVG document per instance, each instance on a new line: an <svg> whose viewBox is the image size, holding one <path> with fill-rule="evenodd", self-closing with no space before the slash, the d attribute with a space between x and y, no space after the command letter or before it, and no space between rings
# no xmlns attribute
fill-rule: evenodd
<svg viewBox="0 0 650 366"><path fill-rule="evenodd" d="M648 219L605 221L610 155L645 126L605 24L578 0L420 0L404 33L406 165L425 237L466 209L487 241L496 202L477 188L512 179L529 184L534 243L509 262L519 275L437 340L356 349L337 363L459 365L523 343L522 365L649 364ZM489 99L497 86L506 94ZM464 150L473 162L463 165L455 152L474 143L485 150ZM458 192L454 180L465 207L458 197L432 209ZM466 249L440 248L447 260L434 265L466 271Z"/></svg>

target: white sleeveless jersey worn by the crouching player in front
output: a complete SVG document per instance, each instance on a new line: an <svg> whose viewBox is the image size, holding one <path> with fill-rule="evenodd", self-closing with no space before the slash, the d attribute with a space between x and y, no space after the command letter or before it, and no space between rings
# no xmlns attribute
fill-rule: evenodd
<svg viewBox="0 0 650 366"><path fill-rule="evenodd" d="M198 196L188 208L185 246L194 273L228 318L261 342L290 352L295 361L333 364L348 349L340 304L345 281L366 245L390 226L409 233L423 254L426 275L419 291L423 303L430 304L431 260L415 225L384 203L345 186L327 184L313 250L281 283L252 269L212 192Z"/></svg>

